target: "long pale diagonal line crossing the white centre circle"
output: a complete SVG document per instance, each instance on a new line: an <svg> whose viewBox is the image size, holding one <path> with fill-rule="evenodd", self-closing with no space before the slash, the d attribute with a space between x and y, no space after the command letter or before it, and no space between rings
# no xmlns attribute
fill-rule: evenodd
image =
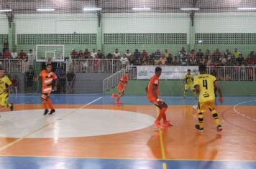
<svg viewBox="0 0 256 169"><path fill-rule="evenodd" d="M3 147L0 148L0 151L3 151L3 150L5 150L6 148L9 148L9 147L11 147L12 145L14 145L14 144L16 144L16 143L19 143L19 142L22 141L24 138L29 137L30 135L34 135L35 132L38 132L38 131L44 129L45 127L48 127L49 125L54 124L54 123L57 122L59 119L63 119L64 117L67 117L68 115L71 115L71 114L73 114L74 112L77 112L78 110L81 110L81 109L83 109L84 107L87 107L88 105L91 105L93 102L96 102L96 101L98 101L98 100L101 100L101 98L102 98L102 97L99 97L99 98L97 98L96 100L93 100L93 101L91 101L91 102L88 102L86 105L83 105L83 106L79 107L78 109L73 110L72 112L69 112L69 113L66 114L66 115L60 116L58 119L52 120L52 122L48 122L48 123L46 123L45 125L43 125L42 127L39 127L39 128L37 128L36 130L33 130L32 132L29 132L27 135L24 135L23 137L20 137L19 139L14 140L13 142L8 143L7 145L4 145Z"/></svg>

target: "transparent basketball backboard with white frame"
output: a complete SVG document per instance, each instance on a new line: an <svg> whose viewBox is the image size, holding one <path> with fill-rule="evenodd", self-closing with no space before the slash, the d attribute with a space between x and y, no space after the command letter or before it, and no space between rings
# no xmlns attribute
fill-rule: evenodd
<svg viewBox="0 0 256 169"><path fill-rule="evenodd" d="M37 44L36 45L36 61L47 62L47 59L52 62L64 62L65 47L63 44Z"/></svg>

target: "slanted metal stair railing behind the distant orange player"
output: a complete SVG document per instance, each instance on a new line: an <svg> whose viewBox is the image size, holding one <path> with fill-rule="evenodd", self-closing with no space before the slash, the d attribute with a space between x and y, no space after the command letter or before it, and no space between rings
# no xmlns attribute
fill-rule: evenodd
<svg viewBox="0 0 256 169"><path fill-rule="evenodd" d="M103 81L103 92L110 90L112 87L115 87L120 81L122 75L124 74L125 69L121 69L118 72L112 74L109 77L106 77Z"/></svg>

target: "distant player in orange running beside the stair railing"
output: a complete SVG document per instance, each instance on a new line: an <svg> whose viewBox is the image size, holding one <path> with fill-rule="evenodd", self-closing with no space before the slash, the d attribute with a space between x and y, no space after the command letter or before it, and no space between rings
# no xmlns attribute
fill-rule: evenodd
<svg viewBox="0 0 256 169"><path fill-rule="evenodd" d="M125 74L122 76L119 83L117 84L117 89L119 93L112 94L112 98L117 97L116 104L120 104L120 98L124 96L124 90L127 87L128 79L129 79L129 72L125 72Z"/></svg>

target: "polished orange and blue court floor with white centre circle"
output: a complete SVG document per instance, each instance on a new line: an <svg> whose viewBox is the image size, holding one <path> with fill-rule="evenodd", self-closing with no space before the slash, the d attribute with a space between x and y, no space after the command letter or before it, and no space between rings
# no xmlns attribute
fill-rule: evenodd
<svg viewBox="0 0 256 169"><path fill-rule="evenodd" d="M256 168L256 97L226 97L205 131L194 125L196 100L163 97L173 127L158 130L144 96L114 105L102 95L52 95L54 115L42 115L40 95L12 95L1 110L0 168Z"/></svg>

